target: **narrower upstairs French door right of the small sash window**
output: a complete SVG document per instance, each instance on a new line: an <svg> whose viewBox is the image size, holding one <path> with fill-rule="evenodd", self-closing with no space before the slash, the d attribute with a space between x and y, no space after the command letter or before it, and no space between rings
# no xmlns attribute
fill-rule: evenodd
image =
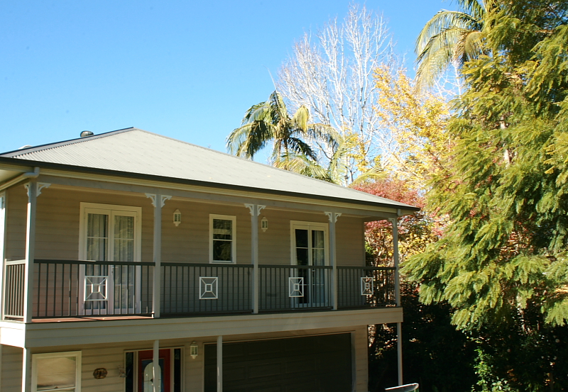
<svg viewBox="0 0 568 392"><path fill-rule="evenodd" d="M295 306L312 308L329 306L329 246L326 223L292 222L292 264L305 266L294 274L300 278L301 296L295 296ZM313 267L313 268L309 268Z"/></svg>

